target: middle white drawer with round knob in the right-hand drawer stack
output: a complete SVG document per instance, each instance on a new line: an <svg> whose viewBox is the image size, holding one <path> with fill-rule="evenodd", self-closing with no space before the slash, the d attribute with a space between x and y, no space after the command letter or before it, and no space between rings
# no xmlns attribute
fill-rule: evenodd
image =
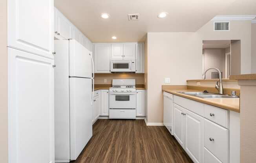
<svg viewBox="0 0 256 163"><path fill-rule="evenodd" d="M229 130L204 120L204 145L222 163L229 162Z"/></svg>

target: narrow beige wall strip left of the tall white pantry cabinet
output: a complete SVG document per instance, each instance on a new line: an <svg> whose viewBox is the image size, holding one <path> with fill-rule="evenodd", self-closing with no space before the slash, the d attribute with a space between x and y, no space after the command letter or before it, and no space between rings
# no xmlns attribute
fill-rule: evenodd
<svg viewBox="0 0 256 163"><path fill-rule="evenodd" d="M0 163L7 163L7 0L0 1Z"/></svg>

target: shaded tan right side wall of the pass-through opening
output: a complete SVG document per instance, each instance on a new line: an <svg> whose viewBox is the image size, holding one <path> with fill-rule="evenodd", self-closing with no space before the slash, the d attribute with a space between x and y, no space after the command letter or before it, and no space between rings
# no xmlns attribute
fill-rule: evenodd
<svg viewBox="0 0 256 163"><path fill-rule="evenodd" d="M241 41L231 41L231 75L241 74Z"/></svg>

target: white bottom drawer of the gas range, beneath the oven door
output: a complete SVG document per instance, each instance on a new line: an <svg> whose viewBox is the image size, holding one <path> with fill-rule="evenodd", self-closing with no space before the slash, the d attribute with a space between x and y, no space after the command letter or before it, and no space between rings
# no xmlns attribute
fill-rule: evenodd
<svg viewBox="0 0 256 163"><path fill-rule="evenodd" d="M135 119L136 109L109 109L110 119Z"/></svg>

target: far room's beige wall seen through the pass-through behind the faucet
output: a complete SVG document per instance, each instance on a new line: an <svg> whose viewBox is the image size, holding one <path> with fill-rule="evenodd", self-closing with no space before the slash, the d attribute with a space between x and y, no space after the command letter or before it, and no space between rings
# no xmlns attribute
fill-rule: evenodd
<svg viewBox="0 0 256 163"><path fill-rule="evenodd" d="M217 67L225 78L225 49L203 49L203 71L209 67ZM209 70L206 72L206 78L212 78L212 72L216 70Z"/></svg>

